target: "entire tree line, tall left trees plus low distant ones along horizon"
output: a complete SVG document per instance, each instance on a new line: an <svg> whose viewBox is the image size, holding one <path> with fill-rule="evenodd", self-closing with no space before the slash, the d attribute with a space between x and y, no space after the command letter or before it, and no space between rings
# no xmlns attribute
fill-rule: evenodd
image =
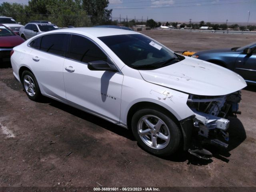
<svg viewBox="0 0 256 192"><path fill-rule="evenodd" d="M94 25L117 25L118 20L111 20L112 9L108 10L108 0L29 0L28 5L19 3L3 2L0 4L0 15L14 18L21 24L26 24L31 20L48 20L59 27L66 26L94 26ZM151 28L161 26L161 22L149 19L145 22L127 19L120 22L121 25L132 27L135 25L146 25ZM192 29L199 29L202 26L208 26L212 30L242 30L246 26L238 24L212 24L210 22L200 21L197 23L166 22L166 26L184 28L187 26ZM256 26L249 25L248 30L256 30Z"/></svg>

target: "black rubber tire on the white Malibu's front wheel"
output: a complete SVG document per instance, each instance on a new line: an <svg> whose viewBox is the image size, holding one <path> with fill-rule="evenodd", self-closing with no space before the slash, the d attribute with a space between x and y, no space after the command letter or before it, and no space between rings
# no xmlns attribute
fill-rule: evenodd
<svg viewBox="0 0 256 192"><path fill-rule="evenodd" d="M161 126L161 129L163 129L164 132L166 132L166 133L168 132L167 129L169 130L169 133L167 133L167 134L165 133L165 135L167 135L167 137L169 134L169 141L166 142L165 144L163 144L163 146L162 146L163 148L158 149L154 146L149 146L149 144L146 144L146 143L150 142L150 139L151 139L152 145L153 145L152 136L154 136L154 138L156 138L156 140L157 140L156 144L158 143L158 141L160 143L165 141L158 137L159 134L162 132L159 133L159 132L155 132L156 130L153 130L154 132L150 131L150 134L148 134L146 136L139 135L138 127L141 128L144 126L145 127L144 130L148 130L147 128L149 128L146 125L145 121L142 120L145 118L151 122L156 121L156 120L158 122L157 118L159 118L160 120L162 120L161 122L164 122L164 124L165 124L165 125ZM152 124L154 125L154 123L152 123ZM166 128L166 126L167 126L167 128ZM143 129L140 129L140 131L142 131L142 130ZM152 130L152 128L151 128L151 130ZM154 154L156 156L170 156L171 154L174 154L174 152L176 152L182 144L182 133L181 133L178 125L170 117L166 116L162 112L159 112L159 111L153 110L153 109L141 109L141 110L138 110L134 114L134 116L132 117L132 132L133 132L134 137L136 138L139 146L141 146L147 152ZM156 134L158 134L158 136Z"/></svg>

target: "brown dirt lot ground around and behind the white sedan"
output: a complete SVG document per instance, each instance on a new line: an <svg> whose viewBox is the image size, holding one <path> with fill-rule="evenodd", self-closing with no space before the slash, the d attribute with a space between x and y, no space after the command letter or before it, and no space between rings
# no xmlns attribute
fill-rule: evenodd
<svg viewBox="0 0 256 192"><path fill-rule="evenodd" d="M175 51L256 41L253 35L143 33ZM144 152L124 128L54 100L29 100L8 67L0 66L1 187L256 187L255 86L242 90L242 114L230 119L228 150L215 149L208 161L186 152L164 159Z"/></svg>

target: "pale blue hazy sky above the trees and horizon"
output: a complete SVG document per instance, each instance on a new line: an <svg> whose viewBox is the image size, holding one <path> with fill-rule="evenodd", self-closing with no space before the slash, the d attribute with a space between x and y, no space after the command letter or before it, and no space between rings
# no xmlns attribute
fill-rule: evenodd
<svg viewBox="0 0 256 192"><path fill-rule="evenodd" d="M0 0L0 3L28 0ZM249 11L251 23L256 23L256 0L109 0L112 19L154 19L161 22L244 22Z"/></svg>

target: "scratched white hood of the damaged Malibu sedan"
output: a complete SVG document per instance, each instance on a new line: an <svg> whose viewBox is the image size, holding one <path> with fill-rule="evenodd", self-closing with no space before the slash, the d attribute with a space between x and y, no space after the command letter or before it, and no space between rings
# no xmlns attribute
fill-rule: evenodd
<svg viewBox="0 0 256 192"><path fill-rule="evenodd" d="M147 82L195 95L220 96L246 87L240 75L189 57L166 67L139 72Z"/></svg>

